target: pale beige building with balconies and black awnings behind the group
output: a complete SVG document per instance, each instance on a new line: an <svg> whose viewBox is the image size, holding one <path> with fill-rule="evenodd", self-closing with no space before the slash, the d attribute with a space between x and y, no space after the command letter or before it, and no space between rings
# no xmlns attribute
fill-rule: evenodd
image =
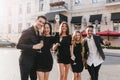
<svg viewBox="0 0 120 80"><path fill-rule="evenodd" d="M70 32L84 31L89 24L94 32L120 32L120 0L14 0L8 14L9 35L19 35L30 27L38 15L45 15L56 31L56 20L67 21ZM57 17L56 17L57 14ZM107 37L105 37L107 38ZM119 37L110 37L113 46L120 46Z"/></svg>

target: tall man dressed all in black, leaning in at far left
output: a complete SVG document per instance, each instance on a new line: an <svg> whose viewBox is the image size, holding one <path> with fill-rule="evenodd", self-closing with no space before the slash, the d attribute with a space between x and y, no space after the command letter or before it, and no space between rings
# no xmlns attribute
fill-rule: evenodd
<svg viewBox="0 0 120 80"><path fill-rule="evenodd" d="M21 80L37 80L35 59L37 50L43 47L40 43L39 30L42 29L46 22L46 17L38 16L35 24L22 32L18 41L17 48L21 49L19 59Z"/></svg>

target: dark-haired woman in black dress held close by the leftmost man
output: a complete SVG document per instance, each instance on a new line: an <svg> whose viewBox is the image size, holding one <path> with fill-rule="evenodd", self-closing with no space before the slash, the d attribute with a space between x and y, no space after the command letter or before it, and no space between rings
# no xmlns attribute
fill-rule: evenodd
<svg viewBox="0 0 120 80"><path fill-rule="evenodd" d="M54 38L51 36L52 27L50 23L46 23L43 28L43 47L41 52L37 54L37 75L39 80L48 80L49 72L53 67L53 58L50 49L53 46Z"/></svg>

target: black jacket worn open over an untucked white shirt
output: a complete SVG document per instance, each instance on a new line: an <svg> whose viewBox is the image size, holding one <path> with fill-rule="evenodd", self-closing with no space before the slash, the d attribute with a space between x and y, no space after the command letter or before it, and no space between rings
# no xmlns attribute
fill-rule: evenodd
<svg viewBox="0 0 120 80"><path fill-rule="evenodd" d="M104 55L104 52L101 47L101 44L103 44L103 38L101 38L100 36L97 36L97 35L93 35L93 39L95 41L95 45L97 47L99 55L102 57L103 60L105 60L105 55ZM84 48L85 48L84 49L85 50L84 58L87 60L87 58L89 56L89 47L88 47L88 43L87 43L87 38L84 39Z"/></svg>

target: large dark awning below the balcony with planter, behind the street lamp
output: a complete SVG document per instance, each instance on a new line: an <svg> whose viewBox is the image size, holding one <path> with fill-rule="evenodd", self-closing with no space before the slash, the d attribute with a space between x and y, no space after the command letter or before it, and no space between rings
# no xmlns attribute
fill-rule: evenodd
<svg viewBox="0 0 120 80"><path fill-rule="evenodd" d="M62 22L62 21L66 21L66 22L67 22L67 16L65 16L65 15L63 15L63 14L60 14L60 13L58 13L58 12L47 13L47 14L45 14L45 16L46 16L46 18L47 18L47 20L48 20L49 22L54 23L54 22L55 22L55 16L56 16L57 14L59 15L60 22Z"/></svg>

